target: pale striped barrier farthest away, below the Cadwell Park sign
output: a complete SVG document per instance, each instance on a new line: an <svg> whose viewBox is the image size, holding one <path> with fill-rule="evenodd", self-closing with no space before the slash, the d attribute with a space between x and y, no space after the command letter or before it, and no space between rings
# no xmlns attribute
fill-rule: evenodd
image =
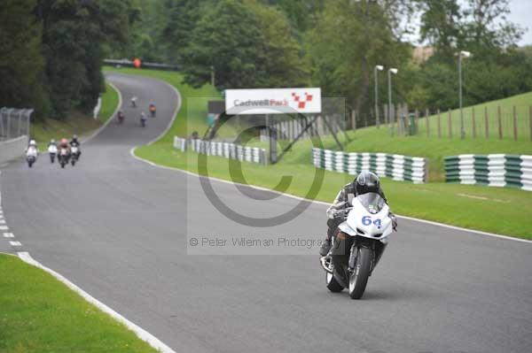
<svg viewBox="0 0 532 353"><path fill-rule="evenodd" d="M266 164L266 150L258 147L244 147L229 142L210 142L199 139L174 137L174 148L185 151L187 148L207 156L226 157L240 161Z"/></svg>

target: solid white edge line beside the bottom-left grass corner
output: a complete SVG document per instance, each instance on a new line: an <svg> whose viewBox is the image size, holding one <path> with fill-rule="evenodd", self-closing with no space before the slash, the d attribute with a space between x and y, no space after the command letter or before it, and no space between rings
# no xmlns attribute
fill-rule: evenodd
<svg viewBox="0 0 532 353"><path fill-rule="evenodd" d="M42 265L38 261L36 261L33 257L29 255L28 252L20 251L18 253L18 256L20 259L24 262L26 262L29 265L34 265L35 267L40 268L43 271L46 271L50 273L53 277L55 277L57 280L61 281L66 285L66 287L72 289L75 293L78 295L81 295L83 299L85 299L87 302L93 304L94 306L98 307L100 311L104 311L106 314L110 315L115 320L119 321L122 325L129 328L129 330L133 331L135 334L137 334L137 337L141 339L142 341L145 341L150 346L152 346L154 349L158 349L162 353L176 353L175 350L169 348L166 344L164 344L162 341L160 341L157 337L153 336L153 334L150 334L145 329L143 329L140 326L137 326L135 323L129 321L129 319L124 318L116 311L113 311L110 307L108 307L106 304L98 301L98 299L94 298L89 293L85 292L82 288L79 288L76 286L73 282L70 280L67 280L65 277L63 277L58 272L55 272L51 270L50 268Z"/></svg>

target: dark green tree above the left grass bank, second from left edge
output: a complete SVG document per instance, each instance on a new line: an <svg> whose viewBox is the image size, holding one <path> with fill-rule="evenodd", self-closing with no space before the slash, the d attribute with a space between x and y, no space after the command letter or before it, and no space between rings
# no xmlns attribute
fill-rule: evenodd
<svg viewBox="0 0 532 353"><path fill-rule="evenodd" d="M104 89L104 44L126 42L129 1L39 0L43 23L45 84L52 114L63 119L74 107L90 111Z"/></svg>

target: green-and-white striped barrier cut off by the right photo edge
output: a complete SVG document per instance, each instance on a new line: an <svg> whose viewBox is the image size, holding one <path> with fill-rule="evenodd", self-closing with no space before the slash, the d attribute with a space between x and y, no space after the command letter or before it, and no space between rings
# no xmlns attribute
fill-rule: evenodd
<svg viewBox="0 0 532 353"><path fill-rule="evenodd" d="M459 155L445 157L445 180L461 184L532 191L532 156Z"/></svg>

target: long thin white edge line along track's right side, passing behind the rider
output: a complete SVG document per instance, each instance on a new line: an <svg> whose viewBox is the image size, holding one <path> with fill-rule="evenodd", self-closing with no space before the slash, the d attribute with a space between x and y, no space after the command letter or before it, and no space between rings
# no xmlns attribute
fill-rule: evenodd
<svg viewBox="0 0 532 353"><path fill-rule="evenodd" d="M325 206L329 206L331 203L325 203L323 201L317 201L317 200L309 200L307 198L304 198L304 197L301 197L301 196L294 196L294 195L291 195L291 194L286 194L286 193L282 193L280 191L277 191L277 190L272 190L270 188L262 188L262 187L258 187L258 186L255 186L255 185L251 185L251 184L241 184L239 182L234 182L234 181L229 181L229 180L223 180L223 179L218 179L218 178L215 178L215 177L210 177L210 176L205 176L205 175L200 175L198 173L192 173L192 172L189 172L189 171L185 171L183 169L179 169L179 168L176 168L176 167L172 167L172 166L167 166L167 165L158 165L156 163L153 163L152 161L150 160L147 160L143 157L138 157L137 155L135 155L135 149L136 147L132 148L131 150L129 150L129 154L136 158L137 160L139 161L142 161L142 162L145 162L147 163L148 165L152 165L152 166L155 166L155 167L159 167L159 168L162 168L162 169L168 169L168 170L171 170L171 171L175 171L175 172L179 172L179 173L185 173L185 174L189 174L189 175L192 175L192 176L195 176L195 177L198 177L198 178L208 178L210 180L215 180L215 181L218 181L218 182L223 182L223 183L226 183L226 184L231 184L231 185L240 185L240 186L244 186L244 187L247 187L247 188L254 188L254 189L257 189L257 190L262 190L262 191L268 191L268 192L271 192L271 193L274 193L274 194L278 194L280 196L286 196L286 197L291 197L293 199L296 199L296 200L301 200L301 201L308 201L309 203L317 203L317 204L323 204ZM464 228L464 227L461 227L461 226L450 226L450 225L446 225L444 223L440 223L440 222L435 222L433 220L426 220L426 219L416 219L416 218L413 218L413 217L409 217L409 216L402 216L402 215L399 215L399 214L396 214L396 216L400 219L408 219L408 220L411 220L411 221L414 221L414 222L419 222L419 223L425 223L425 224L429 224L431 226L442 226L444 228L448 228L448 229L453 229L453 230L458 230L458 231L461 231L461 232L466 232L466 233L471 233L471 234L479 234L479 235L486 235L486 236L490 236L490 237L494 237L494 238L498 238L498 239L504 239L504 240L508 240L508 241L514 241L514 242L525 242L525 243L528 243L528 244L532 244L532 241L529 241L527 239L520 239L520 238L514 238L512 236L509 236L509 235L504 235L504 234L495 234L495 233L489 233L489 232L482 232L480 230L475 230L475 229L468 229L468 228Z"/></svg>

